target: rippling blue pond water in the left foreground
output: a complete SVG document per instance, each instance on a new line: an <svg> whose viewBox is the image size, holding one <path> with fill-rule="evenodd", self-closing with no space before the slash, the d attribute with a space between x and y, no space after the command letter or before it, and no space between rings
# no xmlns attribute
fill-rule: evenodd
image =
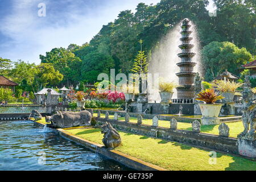
<svg viewBox="0 0 256 182"><path fill-rule="evenodd" d="M32 121L0 122L1 170L131 170Z"/></svg>

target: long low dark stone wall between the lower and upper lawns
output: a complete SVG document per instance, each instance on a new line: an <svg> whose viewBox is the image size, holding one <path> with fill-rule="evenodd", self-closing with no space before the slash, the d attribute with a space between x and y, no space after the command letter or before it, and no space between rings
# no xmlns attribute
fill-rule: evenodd
<svg viewBox="0 0 256 182"><path fill-rule="evenodd" d="M172 130L148 125L138 125L137 123L126 123L122 121L115 121L113 119L97 118L97 122L99 124L103 124L106 121L110 122L111 125L118 130L239 155L236 138L220 137L218 135L196 133L193 131Z"/></svg>

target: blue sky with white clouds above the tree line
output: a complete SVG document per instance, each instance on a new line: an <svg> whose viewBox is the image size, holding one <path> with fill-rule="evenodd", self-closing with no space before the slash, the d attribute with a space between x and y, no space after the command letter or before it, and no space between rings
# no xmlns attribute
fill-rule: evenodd
<svg viewBox="0 0 256 182"><path fill-rule="evenodd" d="M140 2L160 0L1 0L0 57L39 64L40 54L89 42L120 11L135 12Z"/></svg>

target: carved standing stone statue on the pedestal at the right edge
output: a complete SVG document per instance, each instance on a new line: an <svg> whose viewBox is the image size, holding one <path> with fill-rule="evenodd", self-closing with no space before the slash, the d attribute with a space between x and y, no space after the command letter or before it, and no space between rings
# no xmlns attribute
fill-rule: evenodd
<svg viewBox="0 0 256 182"><path fill-rule="evenodd" d="M249 87L245 87L242 92L242 122L245 130L237 137L247 140L256 140L256 103L253 99L253 93Z"/></svg>

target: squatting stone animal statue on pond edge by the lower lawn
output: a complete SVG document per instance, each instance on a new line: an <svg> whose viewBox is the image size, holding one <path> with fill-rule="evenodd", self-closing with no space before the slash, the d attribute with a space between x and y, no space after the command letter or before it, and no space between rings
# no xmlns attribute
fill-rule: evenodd
<svg viewBox="0 0 256 182"><path fill-rule="evenodd" d="M113 149L118 147L122 142L119 133L109 122L106 122L105 125L101 126L101 133L104 134L102 142L106 148Z"/></svg>

